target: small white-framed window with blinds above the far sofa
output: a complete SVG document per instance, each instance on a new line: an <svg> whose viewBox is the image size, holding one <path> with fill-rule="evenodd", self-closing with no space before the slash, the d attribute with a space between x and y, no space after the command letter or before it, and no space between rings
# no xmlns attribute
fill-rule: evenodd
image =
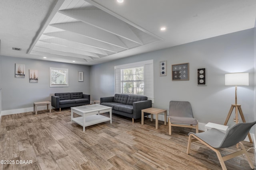
<svg viewBox="0 0 256 170"><path fill-rule="evenodd" d="M50 67L50 87L68 87L68 69Z"/></svg>

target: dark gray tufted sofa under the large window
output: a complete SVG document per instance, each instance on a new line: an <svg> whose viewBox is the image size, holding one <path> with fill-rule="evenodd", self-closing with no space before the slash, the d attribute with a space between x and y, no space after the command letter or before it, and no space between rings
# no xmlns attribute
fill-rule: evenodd
<svg viewBox="0 0 256 170"><path fill-rule="evenodd" d="M112 113L132 118L132 123L134 119L141 118L142 109L152 107L152 101L148 97L126 94L100 98L100 104L112 107Z"/></svg>

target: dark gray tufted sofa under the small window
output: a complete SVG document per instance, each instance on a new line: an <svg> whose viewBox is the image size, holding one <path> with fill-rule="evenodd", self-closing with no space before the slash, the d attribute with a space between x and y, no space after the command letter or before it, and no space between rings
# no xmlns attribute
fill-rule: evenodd
<svg viewBox="0 0 256 170"><path fill-rule="evenodd" d="M60 109L60 111L64 107L90 104L90 94L83 94L83 92L55 93L54 95L52 96L52 106L55 109Z"/></svg>

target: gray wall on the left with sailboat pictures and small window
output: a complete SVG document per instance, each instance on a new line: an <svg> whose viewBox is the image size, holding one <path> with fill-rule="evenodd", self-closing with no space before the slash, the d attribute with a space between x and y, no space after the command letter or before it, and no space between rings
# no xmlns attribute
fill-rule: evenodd
<svg viewBox="0 0 256 170"><path fill-rule="evenodd" d="M57 63L2 56L2 111L33 107L34 102L51 101L58 92L90 94L90 66ZM25 64L25 78L15 78L15 63ZM69 87L50 87L50 67L68 68ZM38 70L38 83L29 83L28 70ZM84 82L78 82L78 71L84 72Z"/></svg>

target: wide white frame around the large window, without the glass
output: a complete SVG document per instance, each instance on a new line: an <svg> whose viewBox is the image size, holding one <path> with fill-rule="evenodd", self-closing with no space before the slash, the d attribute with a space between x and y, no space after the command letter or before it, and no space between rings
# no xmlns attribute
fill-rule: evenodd
<svg viewBox="0 0 256 170"><path fill-rule="evenodd" d="M154 63L153 60L115 66L115 93L121 93L121 69L144 66L144 96L154 103Z"/></svg>

